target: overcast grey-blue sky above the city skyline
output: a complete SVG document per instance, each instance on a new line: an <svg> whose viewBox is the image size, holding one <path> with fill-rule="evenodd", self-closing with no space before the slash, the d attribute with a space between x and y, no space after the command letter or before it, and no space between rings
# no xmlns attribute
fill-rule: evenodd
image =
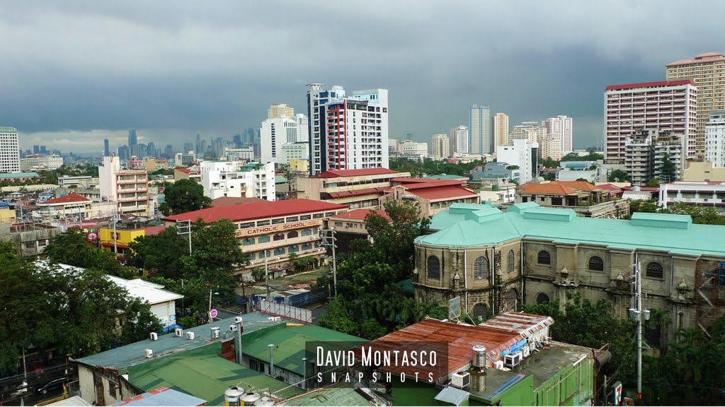
<svg viewBox="0 0 725 407"><path fill-rule="evenodd" d="M150 5L149 5L150 4ZM697 10L697 14L695 11ZM707 10L707 12L704 12ZM606 85L663 80L664 65L725 51L725 2L4 1L0 126L21 147L100 152L103 138L181 148L231 138L267 107L307 109L307 83L389 89L389 134L573 117L600 144Z"/></svg>

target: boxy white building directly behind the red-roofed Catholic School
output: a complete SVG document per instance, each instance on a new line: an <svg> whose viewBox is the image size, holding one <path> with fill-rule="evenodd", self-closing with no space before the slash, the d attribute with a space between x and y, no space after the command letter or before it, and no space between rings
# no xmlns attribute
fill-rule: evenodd
<svg viewBox="0 0 725 407"><path fill-rule="evenodd" d="M273 162L202 161L200 167L204 196L275 200Z"/></svg>

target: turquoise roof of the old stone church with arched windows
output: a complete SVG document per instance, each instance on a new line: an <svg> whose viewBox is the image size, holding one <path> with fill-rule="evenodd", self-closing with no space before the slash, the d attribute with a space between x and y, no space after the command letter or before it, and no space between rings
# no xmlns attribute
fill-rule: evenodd
<svg viewBox="0 0 725 407"><path fill-rule="evenodd" d="M689 255L725 256L724 226L693 225L686 215L634 214L632 220L576 217L571 209L515 204L500 219L479 217L489 205L454 204L436 214L431 235L415 239L431 246L489 246L515 238L591 243L617 248L642 248ZM463 212L463 213L462 213Z"/></svg>

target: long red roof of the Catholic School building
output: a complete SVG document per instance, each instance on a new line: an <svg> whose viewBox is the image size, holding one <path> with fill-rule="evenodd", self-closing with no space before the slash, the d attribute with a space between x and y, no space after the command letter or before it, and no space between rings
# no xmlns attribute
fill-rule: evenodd
<svg viewBox="0 0 725 407"><path fill-rule="evenodd" d="M281 217L286 215L304 214L317 211L339 211L347 209L347 205L330 204L311 199L288 199L285 201L260 202L258 204L217 206L216 208L200 209L183 214L164 217L165 221L202 219L204 222L216 222L219 219L229 219L232 222L252 220L268 217Z"/></svg>

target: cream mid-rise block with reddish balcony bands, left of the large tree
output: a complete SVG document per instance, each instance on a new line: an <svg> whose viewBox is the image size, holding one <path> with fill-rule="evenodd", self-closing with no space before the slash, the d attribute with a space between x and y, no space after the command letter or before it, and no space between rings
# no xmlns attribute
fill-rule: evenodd
<svg viewBox="0 0 725 407"><path fill-rule="evenodd" d="M101 199L115 202L120 215L148 216L149 173L146 169L122 169L118 156L107 156L103 157L98 170Z"/></svg>

